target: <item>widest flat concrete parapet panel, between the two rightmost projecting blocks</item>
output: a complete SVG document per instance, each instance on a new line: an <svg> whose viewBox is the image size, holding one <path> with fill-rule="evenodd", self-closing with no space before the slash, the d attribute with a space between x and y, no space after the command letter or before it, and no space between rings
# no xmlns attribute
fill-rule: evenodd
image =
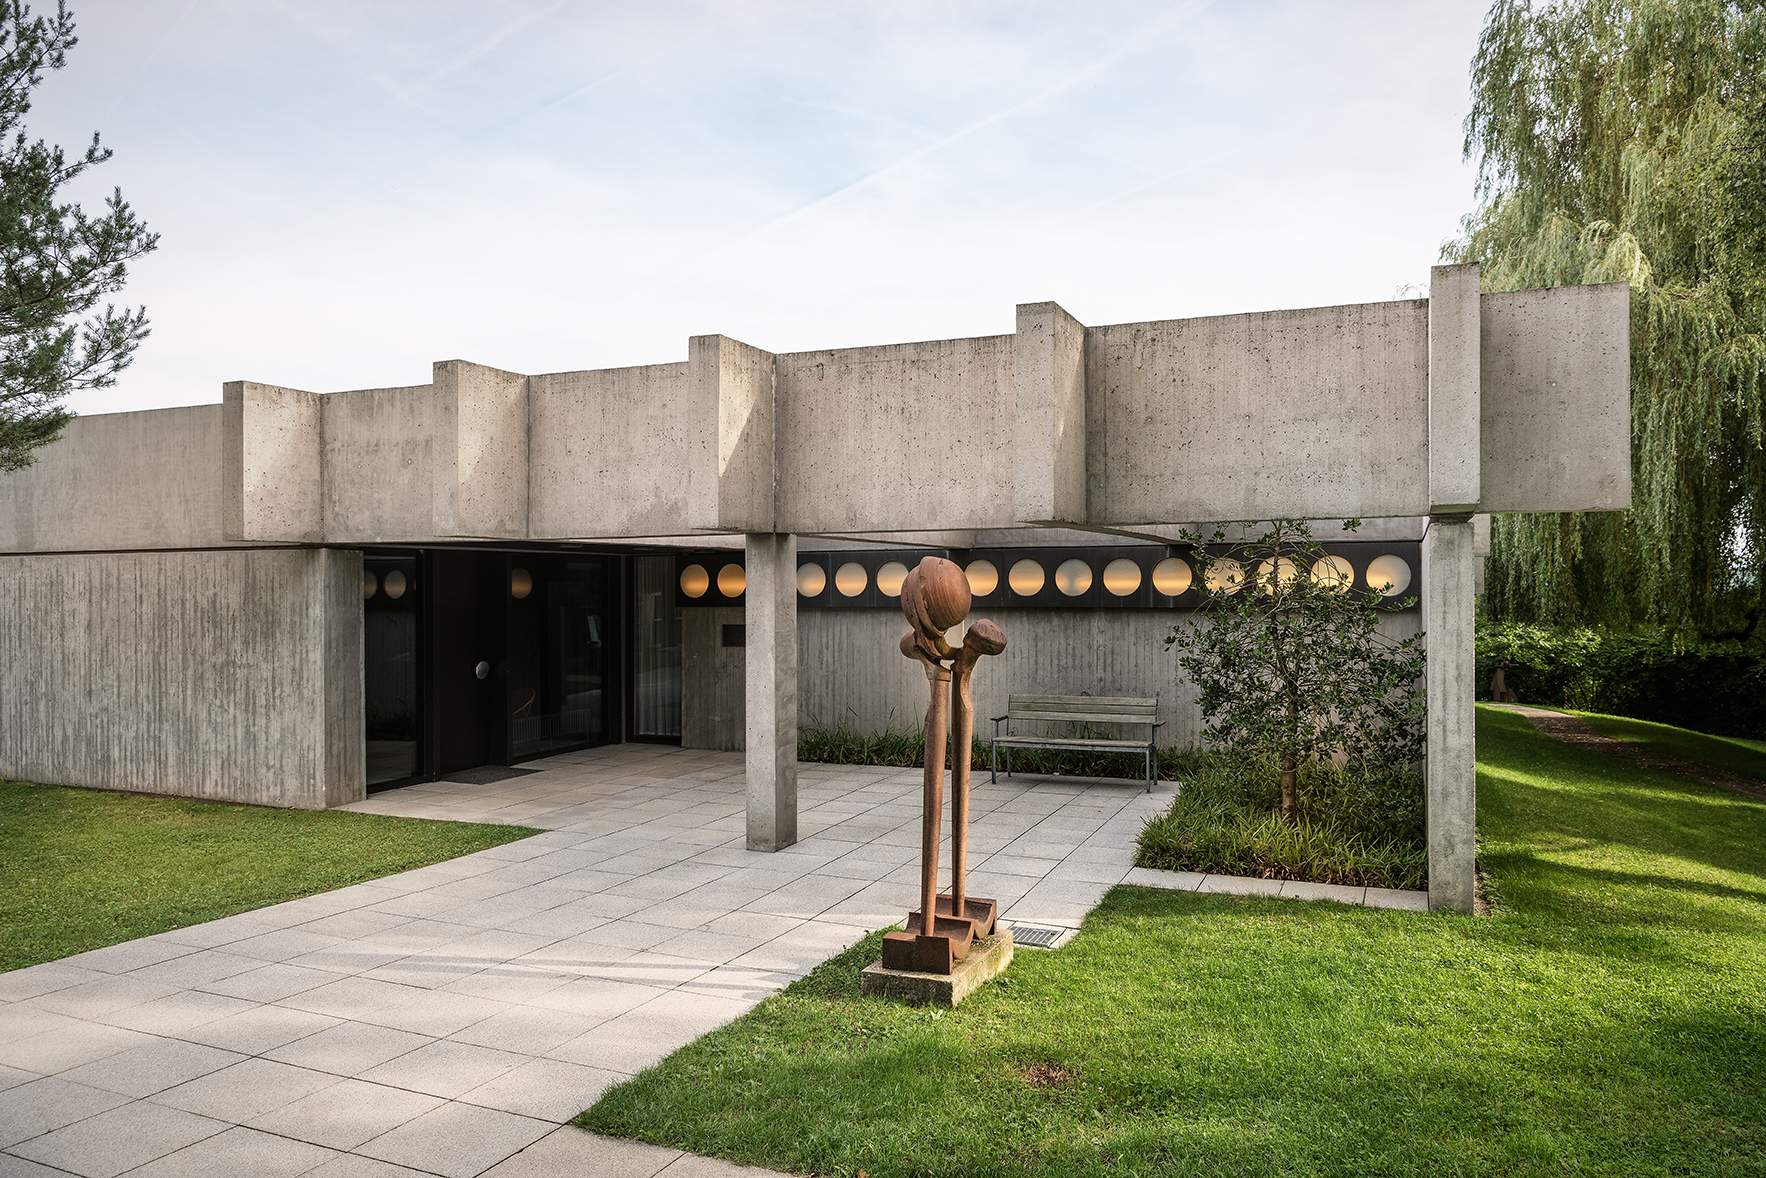
<svg viewBox="0 0 1766 1178"><path fill-rule="evenodd" d="M1086 334L1093 523L1427 510L1429 304Z"/></svg>

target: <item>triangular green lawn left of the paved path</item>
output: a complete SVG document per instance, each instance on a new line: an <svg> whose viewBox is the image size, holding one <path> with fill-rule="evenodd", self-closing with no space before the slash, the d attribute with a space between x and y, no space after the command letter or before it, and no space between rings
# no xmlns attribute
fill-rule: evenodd
<svg viewBox="0 0 1766 1178"><path fill-rule="evenodd" d="M0 970L532 834L0 781Z"/></svg>

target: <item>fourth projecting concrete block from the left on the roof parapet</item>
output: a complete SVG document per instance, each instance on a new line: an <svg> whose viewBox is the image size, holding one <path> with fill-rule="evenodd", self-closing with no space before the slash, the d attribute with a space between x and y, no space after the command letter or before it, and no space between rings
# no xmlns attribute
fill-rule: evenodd
<svg viewBox="0 0 1766 1178"><path fill-rule="evenodd" d="M1086 519L1086 325L1054 302L1017 307L1012 339L1014 514Z"/></svg>

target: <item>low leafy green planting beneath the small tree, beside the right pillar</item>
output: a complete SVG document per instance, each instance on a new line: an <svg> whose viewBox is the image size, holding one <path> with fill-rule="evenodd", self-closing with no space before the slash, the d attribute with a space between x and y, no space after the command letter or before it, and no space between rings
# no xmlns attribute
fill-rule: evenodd
<svg viewBox="0 0 1766 1178"><path fill-rule="evenodd" d="M1277 812L1280 784L1268 765L1224 752L1201 758L1171 811L1141 830L1136 862L1259 880L1425 885L1420 772L1310 763L1300 768L1298 795L1289 821Z"/></svg>

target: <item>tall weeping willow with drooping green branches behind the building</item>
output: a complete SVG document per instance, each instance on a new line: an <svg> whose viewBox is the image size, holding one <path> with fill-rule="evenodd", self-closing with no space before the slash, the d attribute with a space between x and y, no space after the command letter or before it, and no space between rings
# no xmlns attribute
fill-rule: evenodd
<svg viewBox="0 0 1766 1178"><path fill-rule="evenodd" d="M1632 510L1501 516L1496 616L1748 634L1766 553L1766 7L1496 0L1473 60L1485 290L1632 286Z"/></svg>

